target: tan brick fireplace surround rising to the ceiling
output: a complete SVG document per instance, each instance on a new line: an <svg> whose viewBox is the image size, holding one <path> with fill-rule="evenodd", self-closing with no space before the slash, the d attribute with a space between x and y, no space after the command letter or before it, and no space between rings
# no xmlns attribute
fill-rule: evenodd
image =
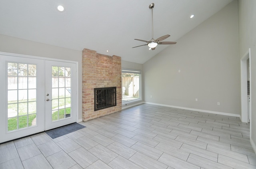
<svg viewBox="0 0 256 169"><path fill-rule="evenodd" d="M121 57L82 52L82 121L88 121L122 110ZM116 87L116 106L94 111L94 89Z"/></svg>

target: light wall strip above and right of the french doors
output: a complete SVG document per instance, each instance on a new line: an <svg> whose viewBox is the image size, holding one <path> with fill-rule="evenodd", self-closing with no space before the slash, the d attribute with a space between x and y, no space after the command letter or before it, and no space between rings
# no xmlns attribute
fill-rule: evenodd
<svg viewBox="0 0 256 169"><path fill-rule="evenodd" d="M0 52L78 62L78 119L82 119L82 51L13 38L0 34Z"/></svg>

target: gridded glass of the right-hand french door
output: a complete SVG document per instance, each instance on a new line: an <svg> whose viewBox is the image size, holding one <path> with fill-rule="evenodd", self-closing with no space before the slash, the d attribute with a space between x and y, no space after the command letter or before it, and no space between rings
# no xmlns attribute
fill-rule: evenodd
<svg viewBox="0 0 256 169"><path fill-rule="evenodd" d="M52 66L52 121L71 117L71 68Z"/></svg>

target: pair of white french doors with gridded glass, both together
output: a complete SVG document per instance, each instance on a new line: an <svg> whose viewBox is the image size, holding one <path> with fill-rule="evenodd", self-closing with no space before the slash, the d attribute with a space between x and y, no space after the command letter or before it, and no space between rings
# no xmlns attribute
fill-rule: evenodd
<svg viewBox="0 0 256 169"><path fill-rule="evenodd" d="M76 64L0 54L0 143L76 121Z"/></svg>

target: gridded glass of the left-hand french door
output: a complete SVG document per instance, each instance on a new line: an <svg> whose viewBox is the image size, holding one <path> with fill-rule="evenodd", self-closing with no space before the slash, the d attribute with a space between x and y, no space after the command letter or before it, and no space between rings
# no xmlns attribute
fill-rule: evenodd
<svg viewBox="0 0 256 169"><path fill-rule="evenodd" d="M36 125L36 65L7 65L8 131Z"/></svg>

